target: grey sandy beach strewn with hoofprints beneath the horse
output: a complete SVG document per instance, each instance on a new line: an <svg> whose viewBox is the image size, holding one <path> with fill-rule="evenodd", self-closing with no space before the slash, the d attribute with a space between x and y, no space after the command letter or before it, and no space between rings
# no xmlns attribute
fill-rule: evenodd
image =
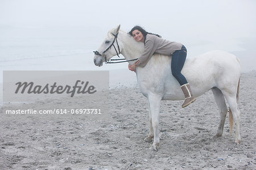
<svg viewBox="0 0 256 170"><path fill-rule="evenodd" d="M118 74L121 76L122 74ZM221 138L212 92L182 109L182 101L162 101L160 147L150 151L148 104L136 84L110 76L108 119L87 115L6 115L1 109L0 169L255 169L256 71L241 74L242 143L229 136L229 117ZM120 81L120 82L119 82ZM113 82L115 82L113 84ZM40 109L56 101L24 103ZM78 102L78 101L77 101ZM42 108L46 109L46 107Z"/></svg>

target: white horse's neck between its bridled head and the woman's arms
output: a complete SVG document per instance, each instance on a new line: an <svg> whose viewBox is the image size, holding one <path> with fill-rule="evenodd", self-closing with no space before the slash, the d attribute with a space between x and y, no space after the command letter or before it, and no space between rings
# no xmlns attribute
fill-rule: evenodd
<svg viewBox="0 0 256 170"><path fill-rule="evenodd" d="M136 59L141 55L144 49L144 44L142 42L136 42L132 36L123 31L119 31L118 36L123 44L121 53L126 60Z"/></svg>

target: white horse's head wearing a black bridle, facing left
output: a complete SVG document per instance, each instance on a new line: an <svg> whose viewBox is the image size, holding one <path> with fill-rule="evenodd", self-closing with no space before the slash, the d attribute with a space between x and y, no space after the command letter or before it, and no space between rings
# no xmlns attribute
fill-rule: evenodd
<svg viewBox="0 0 256 170"><path fill-rule="evenodd" d="M121 45L117 42L119 29L120 25L117 28L110 30L100 48L98 48L97 51L94 51L93 61L96 66L101 67L103 62L106 62L113 56L121 53Z"/></svg>

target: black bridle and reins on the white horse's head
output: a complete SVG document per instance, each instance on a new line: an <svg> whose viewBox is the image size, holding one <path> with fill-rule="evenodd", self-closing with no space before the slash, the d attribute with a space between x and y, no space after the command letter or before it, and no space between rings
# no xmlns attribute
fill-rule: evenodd
<svg viewBox="0 0 256 170"><path fill-rule="evenodd" d="M114 35L114 40L113 40L112 44L109 45L109 47L106 48L105 51L102 52L102 54L101 54L100 52L98 52L98 51L93 51L93 52L94 52L94 55L103 56L104 53L107 52L109 49L111 49L111 47L113 46L114 49L115 49L115 52L117 53L117 56L120 57L119 54L120 54L121 52L120 52L120 48L119 48L119 45L118 45L118 42L117 42L118 32L117 32L117 34L113 34L113 33L111 32L111 34ZM115 41L117 42L117 47L118 47L119 54L118 54L118 52L117 52L117 48L115 48L115 45L114 45ZM124 63L124 62L128 62L128 61L134 61L134 60L137 60L137 59L126 60L126 61L116 61L116 60L126 60L126 59L110 59L110 60L107 60L106 57L104 57L105 64ZM115 62L109 62L109 61L115 61Z"/></svg>

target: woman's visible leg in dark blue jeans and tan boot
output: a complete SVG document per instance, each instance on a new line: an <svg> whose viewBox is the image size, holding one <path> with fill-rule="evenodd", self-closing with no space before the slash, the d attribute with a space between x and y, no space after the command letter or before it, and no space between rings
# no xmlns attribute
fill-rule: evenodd
<svg viewBox="0 0 256 170"><path fill-rule="evenodd" d="M186 57L187 57L187 49L183 45L181 50L177 50L174 52L174 54L172 55L172 62L171 62L172 75L177 79L177 81L181 85L180 86L181 90L185 96L185 101L182 107L186 107L190 103L196 100L196 98L193 97L193 94L191 92L187 79L183 76L183 74L181 74L181 69L183 68Z"/></svg>

